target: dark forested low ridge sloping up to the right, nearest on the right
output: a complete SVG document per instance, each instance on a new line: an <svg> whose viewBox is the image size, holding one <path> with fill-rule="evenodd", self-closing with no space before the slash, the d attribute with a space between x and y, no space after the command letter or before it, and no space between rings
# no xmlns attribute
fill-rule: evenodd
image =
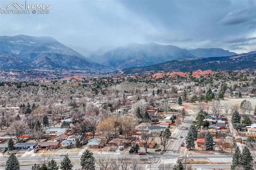
<svg viewBox="0 0 256 170"><path fill-rule="evenodd" d="M122 71L124 74L130 74L142 73L145 71L190 72L198 69L210 69L212 71L256 69L256 51L251 51L249 53L242 53L228 57L177 59L146 67L130 67L123 69Z"/></svg>

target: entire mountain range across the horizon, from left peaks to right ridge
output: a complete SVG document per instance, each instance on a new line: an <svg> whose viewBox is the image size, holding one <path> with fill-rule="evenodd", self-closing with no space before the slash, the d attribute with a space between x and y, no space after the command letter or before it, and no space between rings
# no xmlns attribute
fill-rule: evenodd
<svg viewBox="0 0 256 170"><path fill-rule="evenodd" d="M123 69L124 73L234 70L253 69L254 57L254 51L236 54L221 48L182 49L156 43L130 43L112 49L106 47L93 53L88 52L85 57L51 37L0 36L0 69L73 69L90 73L117 69Z"/></svg>

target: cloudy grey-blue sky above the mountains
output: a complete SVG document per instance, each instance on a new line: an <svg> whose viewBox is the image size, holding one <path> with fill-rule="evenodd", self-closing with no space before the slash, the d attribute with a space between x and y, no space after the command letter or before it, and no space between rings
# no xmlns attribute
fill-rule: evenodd
<svg viewBox="0 0 256 170"><path fill-rule="evenodd" d="M0 8L15 0L1 0ZM17 0L25 2L25 0ZM255 0L26 0L49 14L0 14L0 36L51 36L89 50L155 42L256 50Z"/></svg>

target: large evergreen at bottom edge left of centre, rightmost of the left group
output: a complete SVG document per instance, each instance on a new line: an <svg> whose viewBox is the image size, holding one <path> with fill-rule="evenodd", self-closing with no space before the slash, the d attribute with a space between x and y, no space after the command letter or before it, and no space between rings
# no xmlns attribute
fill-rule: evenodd
<svg viewBox="0 0 256 170"><path fill-rule="evenodd" d="M90 150L86 149L82 153L80 160L80 165L82 166L82 168L86 170L95 170L95 158Z"/></svg>

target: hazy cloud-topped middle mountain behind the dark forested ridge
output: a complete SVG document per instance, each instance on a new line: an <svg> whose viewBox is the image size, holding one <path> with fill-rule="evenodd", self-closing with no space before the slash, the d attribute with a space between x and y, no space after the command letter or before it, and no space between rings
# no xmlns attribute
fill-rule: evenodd
<svg viewBox="0 0 256 170"><path fill-rule="evenodd" d="M175 59L220 57L234 54L236 53L221 48L187 50L174 45L132 43L126 46L116 47L102 55L90 55L88 58L113 69L124 69L127 67L149 66Z"/></svg>

